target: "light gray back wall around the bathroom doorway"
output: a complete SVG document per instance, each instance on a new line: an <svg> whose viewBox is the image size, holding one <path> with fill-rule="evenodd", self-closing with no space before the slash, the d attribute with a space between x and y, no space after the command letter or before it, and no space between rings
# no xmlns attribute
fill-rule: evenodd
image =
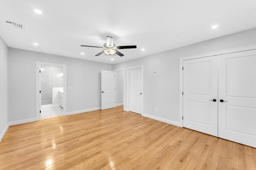
<svg viewBox="0 0 256 170"><path fill-rule="evenodd" d="M10 122L36 117L36 61L66 64L67 87L72 87L67 90L67 112L101 106L100 72L112 69L109 64L9 48Z"/></svg>

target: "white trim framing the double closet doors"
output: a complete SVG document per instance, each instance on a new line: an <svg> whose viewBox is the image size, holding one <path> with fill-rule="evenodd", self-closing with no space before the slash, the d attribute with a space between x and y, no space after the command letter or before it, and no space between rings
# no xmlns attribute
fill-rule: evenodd
<svg viewBox="0 0 256 170"><path fill-rule="evenodd" d="M180 122L180 127L183 127L183 61L185 60L191 60L191 59L198 59L198 58L204 58L204 57L211 57L211 56L219 56L223 54L229 54L229 53L236 53L240 51L248 51L248 50L253 50L256 49L256 45L249 45L245 47L239 47L239 48L234 48L234 49L227 49L227 50L222 50L222 51L216 51L212 53L205 53L201 55L193 55L193 56L188 56L188 57L182 57L180 58L180 114L179 114L179 122Z"/></svg>

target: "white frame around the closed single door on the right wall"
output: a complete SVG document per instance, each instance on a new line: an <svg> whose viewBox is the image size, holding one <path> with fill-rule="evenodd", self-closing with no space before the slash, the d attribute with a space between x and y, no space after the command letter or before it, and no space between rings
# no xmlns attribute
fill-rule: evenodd
<svg viewBox="0 0 256 170"><path fill-rule="evenodd" d="M144 91L143 91L143 84L144 84L144 78L143 78L143 65L139 65L139 66L132 66L132 67L127 67L127 84L126 84L126 87L127 87L127 95L126 95L126 100L127 100L127 107L126 109L124 109L125 111L130 111L130 72L132 69L135 69L135 68L140 68L141 69L141 79L142 79L142 98L141 98L141 115L143 115L143 96L144 96Z"/></svg>

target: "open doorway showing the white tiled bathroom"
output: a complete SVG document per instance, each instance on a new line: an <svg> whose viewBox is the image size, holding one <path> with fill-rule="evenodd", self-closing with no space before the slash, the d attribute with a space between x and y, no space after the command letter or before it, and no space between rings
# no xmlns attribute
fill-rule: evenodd
<svg viewBox="0 0 256 170"><path fill-rule="evenodd" d="M36 71L37 120L66 115L66 65L36 62Z"/></svg>

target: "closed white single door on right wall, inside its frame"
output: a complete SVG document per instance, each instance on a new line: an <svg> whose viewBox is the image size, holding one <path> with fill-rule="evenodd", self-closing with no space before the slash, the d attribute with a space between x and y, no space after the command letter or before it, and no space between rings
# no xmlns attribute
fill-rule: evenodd
<svg viewBox="0 0 256 170"><path fill-rule="evenodd" d="M142 114L142 70L130 70L130 111Z"/></svg>

